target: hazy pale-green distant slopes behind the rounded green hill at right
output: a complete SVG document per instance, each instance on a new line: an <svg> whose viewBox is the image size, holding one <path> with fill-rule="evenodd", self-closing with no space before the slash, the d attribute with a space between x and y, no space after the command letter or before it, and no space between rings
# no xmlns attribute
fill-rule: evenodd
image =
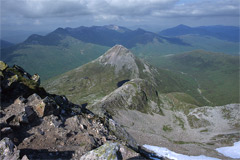
<svg viewBox="0 0 240 160"><path fill-rule="evenodd" d="M213 37L197 35L186 35L180 36L179 38L190 45L169 44L166 41L160 43L154 40L152 43L137 44L137 46L131 48L131 51L142 58L154 55L178 54L197 49L226 54L239 53L239 44L236 42L228 42Z"/></svg>

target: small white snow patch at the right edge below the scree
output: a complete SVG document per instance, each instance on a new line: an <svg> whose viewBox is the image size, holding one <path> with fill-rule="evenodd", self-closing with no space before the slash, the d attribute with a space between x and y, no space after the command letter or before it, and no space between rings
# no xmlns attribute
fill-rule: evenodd
<svg viewBox="0 0 240 160"><path fill-rule="evenodd" d="M240 141L235 142L233 146L217 148L216 151L230 158L240 158Z"/></svg>

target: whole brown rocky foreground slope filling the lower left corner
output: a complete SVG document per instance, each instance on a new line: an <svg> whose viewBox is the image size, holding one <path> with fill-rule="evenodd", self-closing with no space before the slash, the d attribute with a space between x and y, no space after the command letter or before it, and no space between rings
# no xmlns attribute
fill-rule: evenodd
<svg viewBox="0 0 240 160"><path fill-rule="evenodd" d="M147 159L152 155L111 117L101 118L65 96L46 92L38 75L2 61L0 70L0 159Z"/></svg>

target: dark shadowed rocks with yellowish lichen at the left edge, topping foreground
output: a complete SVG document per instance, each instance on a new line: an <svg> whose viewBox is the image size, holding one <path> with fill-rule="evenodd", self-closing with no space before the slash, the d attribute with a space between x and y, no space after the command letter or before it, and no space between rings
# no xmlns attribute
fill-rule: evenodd
<svg viewBox="0 0 240 160"><path fill-rule="evenodd" d="M47 95L46 91L39 86L37 81L31 79L31 75L20 66L14 65L9 67L1 61L1 101L2 107L9 103L13 103L20 96L28 97L33 93L37 93L41 97ZM6 102L6 103L5 103Z"/></svg>

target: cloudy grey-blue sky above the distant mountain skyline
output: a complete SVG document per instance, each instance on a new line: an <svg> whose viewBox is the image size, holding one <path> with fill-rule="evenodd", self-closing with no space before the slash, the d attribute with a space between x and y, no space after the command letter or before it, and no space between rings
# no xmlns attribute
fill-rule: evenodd
<svg viewBox="0 0 240 160"><path fill-rule="evenodd" d="M240 0L0 0L1 33L50 32L58 27L115 24L160 31L239 25Z"/></svg>

